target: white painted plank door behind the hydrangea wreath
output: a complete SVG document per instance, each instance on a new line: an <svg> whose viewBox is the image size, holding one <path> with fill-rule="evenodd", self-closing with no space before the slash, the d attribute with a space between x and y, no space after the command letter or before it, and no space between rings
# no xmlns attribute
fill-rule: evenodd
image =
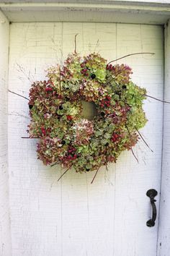
<svg viewBox="0 0 170 256"><path fill-rule="evenodd" d="M136 52L118 63L133 68L133 81L148 95L163 98L163 31L156 25L109 23L12 23L9 89L27 96L30 80L44 80L51 64L73 51L94 49L109 61ZM97 45L97 40L99 44ZM29 79L27 78L29 77ZM148 228L151 205L146 191L158 191L161 179L163 106L148 99L142 140L133 154L124 152L109 171L69 171L60 182L60 167L45 167L36 157L36 141L27 136L27 101L9 94L9 184L12 256L156 256L156 226Z"/></svg>

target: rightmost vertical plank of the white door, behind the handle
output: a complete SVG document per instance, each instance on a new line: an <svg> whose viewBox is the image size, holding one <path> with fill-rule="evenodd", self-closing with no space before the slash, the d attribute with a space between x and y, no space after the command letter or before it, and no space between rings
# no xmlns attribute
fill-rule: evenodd
<svg viewBox="0 0 170 256"><path fill-rule="evenodd" d="M163 33L161 27L117 24L117 58L135 52L154 52L155 56L130 56L119 63L133 67L133 81L148 95L163 98ZM154 43L153 43L154 42ZM134 152L120 156L116 164L115 255L156 255L157 223L148 229L151 206L146 192L160 190L163 104L145 101L148 123L140 132L151 150L140 140ZM156 198L158 208L158 197Z"/></svg>

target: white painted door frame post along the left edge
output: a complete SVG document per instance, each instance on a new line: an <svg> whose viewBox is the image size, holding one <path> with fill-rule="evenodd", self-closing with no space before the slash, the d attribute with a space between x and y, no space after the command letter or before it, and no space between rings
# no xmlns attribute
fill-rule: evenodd
<svg viewBox="0 0 170 256"><path fill-rule="evenodd" d="M0 11L0 255L11 255L7 140L9 22Z"/></svg>

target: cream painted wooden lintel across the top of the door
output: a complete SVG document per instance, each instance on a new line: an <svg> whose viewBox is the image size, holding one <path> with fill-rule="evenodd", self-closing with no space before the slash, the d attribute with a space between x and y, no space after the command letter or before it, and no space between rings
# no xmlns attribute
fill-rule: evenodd
<svg viewBox="0 0 170 256"><path fill-rule="evenodd" d="M162 24L170 17L170 1L63 0L0 1L11 22L120 22Z"/></svg>

